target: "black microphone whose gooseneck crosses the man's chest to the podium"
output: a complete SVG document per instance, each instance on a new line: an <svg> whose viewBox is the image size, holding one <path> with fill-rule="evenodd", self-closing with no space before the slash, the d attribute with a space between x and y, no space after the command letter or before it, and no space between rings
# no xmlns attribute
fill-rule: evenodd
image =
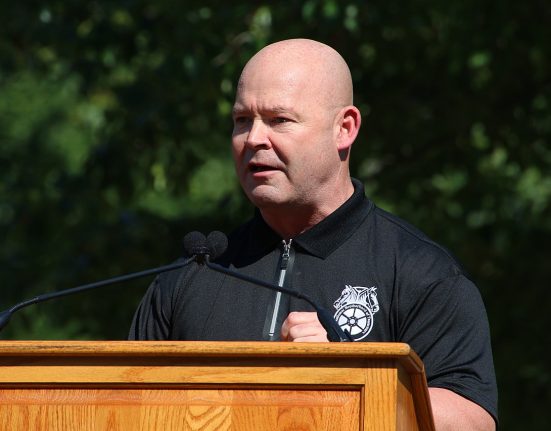
<svg viewBox="0 0 551 431"><path fill-rule="evenodd" d="M198 255L197 262L204 263L208 268L214 271L220 272L222 274L229 275L230 277L238 278L240 280L247 281L249 283L253 283L253 284L256 284L257 286L262 286L262 287L274 290L276 292L286 293L287 295L290 295L294 298L298 298L306 301L316 310L318 314L318 319L321 325L323 326L323 329L325 329L325 331L327 332L327 339L329 341L354 341L352 336L347 331L343 331L343 329L335 321L335 318L331 315L331 313L328 310L316 304L316 302L313 299L311 299L308 295L283 286L278 286L273 283L268 283L268 282L256 279L254 277L249 277L248 275L241 274L237 271L233 271L231 269L223 267L222 265L218 265L210 261L211 259L215 259L216 257L222 255L226 251L227 247L228 247L228 238L226 237L226 235L219 231L213 231L208 235L206 239L206 248L208 249L207 252L202 254L200 259L199 259L199 253L197 253ZM186 252L188 252L188 254L194 254L194 252L196 251L197 251L196 248L186 249Z"/></svg>

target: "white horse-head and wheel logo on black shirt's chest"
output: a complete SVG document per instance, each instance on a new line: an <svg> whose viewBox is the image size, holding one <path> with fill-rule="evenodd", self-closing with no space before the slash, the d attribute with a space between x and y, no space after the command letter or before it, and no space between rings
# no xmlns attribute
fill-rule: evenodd
<svg viewBox="0 0 551 431"><path fill-rule="evenodd" d="M379 311L377 288L346 285L333 306L337 309L335 320L343 331L354 340L367 337L373 329L373 315Z"/></svg>

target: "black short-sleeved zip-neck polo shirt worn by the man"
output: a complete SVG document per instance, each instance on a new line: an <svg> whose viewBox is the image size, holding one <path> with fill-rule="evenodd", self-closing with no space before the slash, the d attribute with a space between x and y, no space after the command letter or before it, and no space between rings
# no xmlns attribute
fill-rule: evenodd
<svg viewBox="0 0 551 431"><path fill-rule="evenodd" d="M284 285L330 310L357 341L408 343L431 387L450 389L497 417L497 388L484 304L443 247L354 194L293 238ZM282 239L257 211L229 237L218 263L277 283ZM156 278L136 312L130 339L267 340L275 292L191 264ZM290 311L313 311L283 295Z"/></svg>

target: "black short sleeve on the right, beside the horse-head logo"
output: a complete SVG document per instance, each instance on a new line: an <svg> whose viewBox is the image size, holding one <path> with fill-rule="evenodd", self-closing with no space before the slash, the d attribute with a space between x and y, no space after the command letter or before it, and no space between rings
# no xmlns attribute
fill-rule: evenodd
<svg viewBox="0 0 551 431"><path fill-rule="evenodd" d="M486 310L463 275L417 291L401 322L400 339L423 358L429 387L449 389L497 419L497 385Z"/></svg>

